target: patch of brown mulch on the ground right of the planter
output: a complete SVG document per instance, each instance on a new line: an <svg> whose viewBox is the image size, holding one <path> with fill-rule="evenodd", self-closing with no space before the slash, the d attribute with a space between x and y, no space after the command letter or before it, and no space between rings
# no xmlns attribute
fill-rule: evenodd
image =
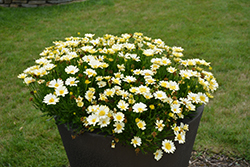
<svg viewBox="0 0 250 167"><path fill-rule="evenodd" d="M193 151L188 167L250 167L249 162L241 158L228 157L220 154L213 154L206 151Z"/></svg>

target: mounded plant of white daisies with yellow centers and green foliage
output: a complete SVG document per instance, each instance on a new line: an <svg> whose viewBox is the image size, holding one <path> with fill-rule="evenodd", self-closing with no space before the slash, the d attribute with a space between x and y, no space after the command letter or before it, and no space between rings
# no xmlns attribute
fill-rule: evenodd
<svg viewBox="0 0 250 167"><path fill-rule="evenodd" d="M183 59L183 50L142 33L85 34L55 41L18 78L37 108L67 126L67 140L102 134L110 150L121 145L160 162L185 145L185 120L202 113L218 88L210 63Z"/></svg>

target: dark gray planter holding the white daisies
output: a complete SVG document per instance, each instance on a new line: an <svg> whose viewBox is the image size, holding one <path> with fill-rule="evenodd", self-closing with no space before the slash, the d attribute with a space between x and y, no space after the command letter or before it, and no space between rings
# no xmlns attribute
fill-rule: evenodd
<svg viewBox="0 0 250 167"><path fill-rule="evenodd" d="M152 153L136 155L134 148L119 143L112 149L111 137L85 132L72 139L65 125L58 129L71 167L187 167L203 109L204 105L198 107L191 120L183 121L189 124L185 144L175 142L174 154L164 153L159 161Z"/></svg>

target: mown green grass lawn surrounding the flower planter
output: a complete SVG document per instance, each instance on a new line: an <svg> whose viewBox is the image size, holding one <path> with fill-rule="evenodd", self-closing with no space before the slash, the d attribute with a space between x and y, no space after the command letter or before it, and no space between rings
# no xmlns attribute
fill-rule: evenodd
<svg viewBox="0 0 250 167"><path fill-rule="evenodd" d="M67 166L53 121L29 102L17 75L52 41L95 33L143 32L188 58L212 62L220 84L205 107L196 150L250 160L250 1L91 0L0 8L0 166Z"/></svg>

